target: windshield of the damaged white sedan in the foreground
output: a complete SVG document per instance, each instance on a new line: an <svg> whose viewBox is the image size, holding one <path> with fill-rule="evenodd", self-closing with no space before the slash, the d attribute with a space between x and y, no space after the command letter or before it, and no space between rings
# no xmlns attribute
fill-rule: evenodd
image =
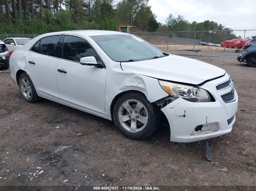
<svg viewBox="0 0 256 191"><path fill-rule="evenodd" d="M116 62L141 61L168 55L134 35L96 35L91 38Z"/></svg>

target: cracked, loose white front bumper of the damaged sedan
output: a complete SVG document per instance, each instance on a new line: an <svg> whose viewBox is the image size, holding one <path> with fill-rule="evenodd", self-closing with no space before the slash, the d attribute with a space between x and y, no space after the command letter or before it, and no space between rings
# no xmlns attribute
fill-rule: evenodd
<svg viewBox="0 0 256 191"><path fill-rule="evenodd" d="M201 86L201 88L208 90L212 94L216 100L215 102L189 102L178 98L161 109L170 125L171 141L194 142L231 132L238 108L237 93L234 90L236 99L233 102L225 103L221 95L228 93L231 89L226 88L222 91L217 91L215 88L216 84L228 79L229 75L226 74L222 78L209 81ZM191 135L195 127L209 123L218 123L218 131Z"/></svg>

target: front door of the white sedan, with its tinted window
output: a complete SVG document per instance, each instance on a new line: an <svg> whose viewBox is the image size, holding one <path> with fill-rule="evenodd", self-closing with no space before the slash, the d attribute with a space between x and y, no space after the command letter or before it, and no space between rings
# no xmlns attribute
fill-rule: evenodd
<svg viewBox="0 0 256 191"><path fill-rule="evenodd" d="M86 56L94 56L103 65L101 59L84 39L70 35L63 37L61 59L56 68L60 100L104 114L106 69L80 64L80 58Z"/></svg>

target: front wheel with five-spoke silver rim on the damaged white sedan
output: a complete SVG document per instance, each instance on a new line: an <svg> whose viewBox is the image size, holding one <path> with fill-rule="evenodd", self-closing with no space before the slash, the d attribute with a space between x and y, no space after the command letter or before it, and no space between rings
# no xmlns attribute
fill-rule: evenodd
<svg viewBox="0 0 256 191"><path fill-rule="evenodd" d="M160 109L139 92L128 92L119 97L113 108L112 116L117 129L131 139L149 137L158 129L160 123ZM121 123L121 120L124 122Z"/></svg>

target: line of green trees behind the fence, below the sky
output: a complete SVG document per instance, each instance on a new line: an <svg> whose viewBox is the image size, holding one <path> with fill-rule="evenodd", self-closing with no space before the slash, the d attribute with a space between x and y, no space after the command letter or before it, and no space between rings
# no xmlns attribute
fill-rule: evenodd
<svg viewBox="0 0 256 191"><path fill-rule="evenodd" d="M0 0L0 33L47 33L62 30L115 30L132 25L134 31L216 30L215 38L228 30L227 39L236 38L232 29L214 21L190 23L170 14L165 23L156 21L149 0ZM194 33L170 33L172 37L193 37ZM204 39L203 34L197 38ZM206 41L206 38L205 38Z"/></svg>

